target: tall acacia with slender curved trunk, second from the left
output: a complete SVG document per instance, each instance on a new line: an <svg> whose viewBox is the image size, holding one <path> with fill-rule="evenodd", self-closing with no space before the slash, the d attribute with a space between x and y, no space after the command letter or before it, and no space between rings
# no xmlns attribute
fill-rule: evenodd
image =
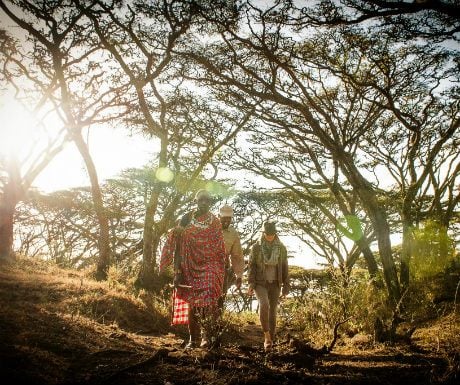
<svg viewBox="0 0 460 385"><path fill-rule="evenodd" d="M76 145L88 171L94 210L99 224L96 277L106 277L110 263L109 227L95 164L83 129L107 123L125 113L123 85L107 87L103 57L84 15L66 1L0 1L2 11L27 33L33 68L49 86L39 98L50 100L64 121L68 138Z"/></svg>

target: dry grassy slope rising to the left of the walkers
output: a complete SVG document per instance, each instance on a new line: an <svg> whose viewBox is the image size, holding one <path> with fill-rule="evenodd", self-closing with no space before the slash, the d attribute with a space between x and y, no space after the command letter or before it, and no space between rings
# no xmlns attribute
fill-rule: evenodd
<svg viewBox="0 0 460 385"><path fill-rule="evenodd" d="M76 357L152 352L155 309L106 283L29 259L0 266L0 367L7 378L61 383ZM5 378L5 377L3 377Z"/></svg>

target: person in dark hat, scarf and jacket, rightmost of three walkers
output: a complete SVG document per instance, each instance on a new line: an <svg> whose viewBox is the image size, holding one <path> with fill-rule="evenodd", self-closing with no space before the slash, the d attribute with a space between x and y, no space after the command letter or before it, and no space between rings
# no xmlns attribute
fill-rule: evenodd
<svg viewBox="0 0 460 385"><path fill-rule="evenodd" d="M264 349L273 347L276 312L280 293L289 293L287 250L278 237L276 224L264 223L261 238L252 246L248 265L248 294L255 292L259 302L259 319L264 333Z"/></svg>

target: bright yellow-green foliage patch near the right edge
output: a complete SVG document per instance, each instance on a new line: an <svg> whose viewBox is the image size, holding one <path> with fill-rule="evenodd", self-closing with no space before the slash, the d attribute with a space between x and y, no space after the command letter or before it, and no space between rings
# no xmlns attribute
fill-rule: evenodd
<svg viewBox="0 0 460 385"><path fill-rule="evenodd" d="M413 230L411 248L410 270L415 280L445 271L454 258L454 241L447 234L447 228L433 220Z"/></svg>

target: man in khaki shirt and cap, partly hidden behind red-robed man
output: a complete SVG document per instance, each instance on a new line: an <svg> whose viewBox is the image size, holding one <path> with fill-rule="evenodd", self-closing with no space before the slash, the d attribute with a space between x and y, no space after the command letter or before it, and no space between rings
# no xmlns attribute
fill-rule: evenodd
<svg viewBox="0 0 460 385"><path fill-rule="evenodd" d="M222 298L219 301L220 311L223 312L225 295L229 287L235 282L236 288L238 290L241 288L244 258L240 236L238 231L231 225L233 220L233 208L228 205L222 206L219 211L219 219L222 224L226 254L224 287Z"/></svg>

